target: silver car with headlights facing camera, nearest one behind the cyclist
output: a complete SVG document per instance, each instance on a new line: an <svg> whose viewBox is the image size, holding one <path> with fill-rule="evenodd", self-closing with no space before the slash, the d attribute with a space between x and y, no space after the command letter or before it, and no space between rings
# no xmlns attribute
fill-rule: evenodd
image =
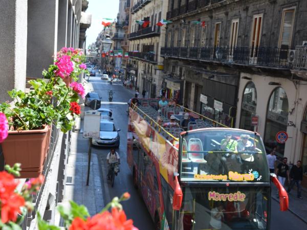
<svg viewBox="0 0 307 230"><path fill-rule="evenodd" d="M119 147L120 137L117 129L111 121L100 121L99 138L93 138L92 144L95 146L115 146Z"/></svg>

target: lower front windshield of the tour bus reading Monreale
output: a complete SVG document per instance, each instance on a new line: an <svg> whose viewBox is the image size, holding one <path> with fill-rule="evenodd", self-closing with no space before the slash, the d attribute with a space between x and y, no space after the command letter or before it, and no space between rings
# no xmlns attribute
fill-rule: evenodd
<svg viewBox="0 0 307 230"><path fill-rule="evenodd" d="M267 229L269 188L182 190L178 229Z"/></svg>

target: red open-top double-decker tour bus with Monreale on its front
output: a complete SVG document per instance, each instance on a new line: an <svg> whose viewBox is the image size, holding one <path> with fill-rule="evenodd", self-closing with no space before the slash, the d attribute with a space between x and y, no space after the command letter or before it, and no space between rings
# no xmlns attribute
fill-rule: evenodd
<svg viewBox="0 0 307 230"><path fill-rule="evenodd" d="M271 181L281 211L288 195L269 172L260 135L182 106L158 112L157 103L132 100L127 134L127 162L155 229L270 229ZM187 130L157 122L184 113L194 118Z"/></svg>

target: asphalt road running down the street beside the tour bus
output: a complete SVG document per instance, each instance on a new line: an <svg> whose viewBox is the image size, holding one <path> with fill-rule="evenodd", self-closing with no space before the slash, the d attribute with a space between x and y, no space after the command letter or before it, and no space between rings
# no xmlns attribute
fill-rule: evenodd
<svg viewBox="0 0 307 230"><path fill-rule="evenodd" d="M133 97L130 90L122 86L122 82L114 82L112 85L106 80L101 80L97 73L96 77L91 77L90 82L93 83L94 90L102 97L101 107L112 109L114 123L117 128L120 128L120 147L117 150L121 158L120 173L115 178L114 187L106 180L106 155L109 152L108 148L93 148L93 153L97 154L100 160L102 170L102 180L104 181L105 203L109 202L110 198L120 196L124 192L129 192L131 198L123 203L123 208L128 218L134 220L134 224L140 230L153 229L153 222L147 211L145 203L140 193L134 188L132 174L126 163L126 136L127 136L127 101ZM108 102L107 90L114 91L113 103ZM307 229L305 222L300 220L291 212L279 211L279 204L272 200L272 219L271 229L278 230L303 230Z"/></svg>

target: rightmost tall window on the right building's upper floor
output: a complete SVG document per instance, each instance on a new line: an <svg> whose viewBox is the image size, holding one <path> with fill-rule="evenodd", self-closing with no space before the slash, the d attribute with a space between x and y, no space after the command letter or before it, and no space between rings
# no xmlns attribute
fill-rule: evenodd
<svg viewBox="0 0 307 230"><path fill-rule="evenodd" d="M288 47L291 47L294 13L295 9L283 10L282 12L279 47L281 45L288 45Z"/></svg>

